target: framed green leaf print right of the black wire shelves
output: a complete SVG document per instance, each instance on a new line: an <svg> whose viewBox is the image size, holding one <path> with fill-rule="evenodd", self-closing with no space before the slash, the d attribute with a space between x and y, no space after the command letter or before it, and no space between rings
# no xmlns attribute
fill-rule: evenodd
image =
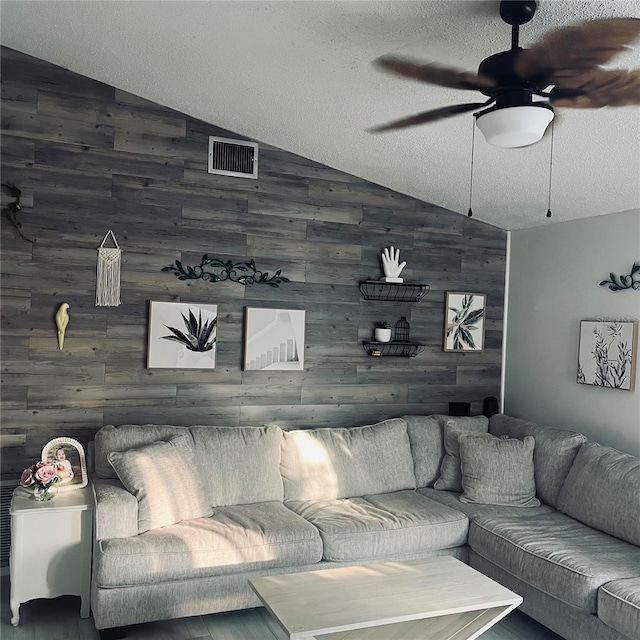
<svg viewBox="0 0 640 640"><path fill-rule="evenodd" d="M444 307L444 350L484 351L486 296L447 291Z"/></svg>

